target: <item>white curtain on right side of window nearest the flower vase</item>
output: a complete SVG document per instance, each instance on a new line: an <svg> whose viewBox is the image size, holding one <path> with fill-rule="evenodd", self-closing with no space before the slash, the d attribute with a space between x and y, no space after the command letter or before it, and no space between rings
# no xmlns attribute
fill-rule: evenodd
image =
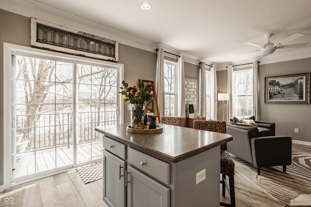
<svg viewBox="0 0 311 207"><path fill-rule="evenodd" d="M178 87L180 86L180 87ZM178 57L178 68L177 68L177 116L186 117L186 106L185 106L185 69L184 69L184 58L183 55Z"/></svg>

